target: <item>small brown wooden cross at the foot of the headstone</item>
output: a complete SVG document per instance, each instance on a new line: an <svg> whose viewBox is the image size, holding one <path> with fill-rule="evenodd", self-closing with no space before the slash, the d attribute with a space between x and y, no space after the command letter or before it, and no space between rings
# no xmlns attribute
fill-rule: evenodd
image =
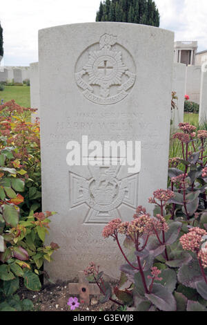
<svg viewBox="0 0 207 325"><path fill-rule="evenodd" d="M80 301L83 300L85 304L90 304L90 295L101 295L97 284L89 284L84 272L78 272L79 283L68 284L70 295L79 295Z"/></svg>

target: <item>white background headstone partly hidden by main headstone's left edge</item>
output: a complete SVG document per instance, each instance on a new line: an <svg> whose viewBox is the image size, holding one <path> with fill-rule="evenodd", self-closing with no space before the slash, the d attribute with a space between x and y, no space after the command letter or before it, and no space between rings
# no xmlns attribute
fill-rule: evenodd
<svg viewBox="0 0 207 325"><path fill-rule="evenodd" d="M39 104L39 67L38 62L30 64L30 106L32 109L38 109L32 113L32 122L39 118L40 104Z"/></svg>

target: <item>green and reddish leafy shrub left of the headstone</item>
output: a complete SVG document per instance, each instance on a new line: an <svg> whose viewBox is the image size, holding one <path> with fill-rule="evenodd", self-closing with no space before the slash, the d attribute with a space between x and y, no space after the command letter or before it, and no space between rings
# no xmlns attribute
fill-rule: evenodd
<svg viewBox="0 0 207 325"><path fill-rule="evenodd" d="M34 213L41 190L33 175L40 167L39 125L26 122L31 109L11 101L0 111L0 310L30 310L32 302L17 295L19 278L28 290L41 289L43 261L59 248L44 245L55 213Z"/></svg>

